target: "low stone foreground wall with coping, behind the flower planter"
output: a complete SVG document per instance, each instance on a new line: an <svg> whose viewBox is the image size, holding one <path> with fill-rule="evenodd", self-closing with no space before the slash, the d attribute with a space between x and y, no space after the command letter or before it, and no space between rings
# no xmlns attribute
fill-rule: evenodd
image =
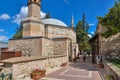
<svg viewBox="0 0 120 80"><path fill-rule="evenodd" d="M19 76L30 76L30 73L34 69L45 69L47 73L55 68L60 67L63 63L68 62L66 55L49 56L49 57L21 57L11 58L2 61L4 63L3 73L13 74L13 78L16 79ZM13 79L13 80L14 80Z"/></svg>

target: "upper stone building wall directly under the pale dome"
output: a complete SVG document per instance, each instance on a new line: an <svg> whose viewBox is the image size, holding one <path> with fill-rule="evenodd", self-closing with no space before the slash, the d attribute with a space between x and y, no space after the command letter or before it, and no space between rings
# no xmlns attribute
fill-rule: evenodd
<svg viewBox="0 0 120 80"><path fill-rule="evenodd" d="M45 26L45 36L48 38L58 38L58 37L68 37L76 42L76 33L72 28L46 25Z"/></svg>

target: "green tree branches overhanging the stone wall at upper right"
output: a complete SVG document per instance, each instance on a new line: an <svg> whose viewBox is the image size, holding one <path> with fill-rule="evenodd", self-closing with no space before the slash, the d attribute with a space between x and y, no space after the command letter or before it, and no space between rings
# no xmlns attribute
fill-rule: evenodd
<svg viewBox="0 0 120 80"><path fill-rule="evenodd" d="M116 2L115 6L109 9L109 12L104 17L97 17L99 22L107 28L107 31L102 34L104 37L109 37L120 32L120 2Z"/></svg>

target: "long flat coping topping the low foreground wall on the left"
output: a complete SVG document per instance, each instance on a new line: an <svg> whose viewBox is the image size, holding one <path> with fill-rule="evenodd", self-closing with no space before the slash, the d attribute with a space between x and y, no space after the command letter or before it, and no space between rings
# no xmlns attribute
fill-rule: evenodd
<svg viewBox="0 0 120 80"><path fill-rule="evenodd" d="M47 58L58 58L58 57L65 57L67 55L52 55L52 56L31 56L31 57L16 57L16 58L9 58L6 60L0 61L0 63L8 63L8 64L17 64L22 62L30 62L30 61L36 61L36 60L44 60Z"/></svg>

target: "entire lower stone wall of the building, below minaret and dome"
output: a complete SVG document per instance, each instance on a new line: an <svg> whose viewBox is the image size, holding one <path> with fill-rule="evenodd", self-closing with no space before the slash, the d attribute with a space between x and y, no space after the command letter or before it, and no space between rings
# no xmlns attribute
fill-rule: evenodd
<svg viewBox="0 0 120 80"><path fill-rule="evenodd" d="M21 51L22 56L74 55L76 43L69 38L23 38L9 42L9 51Z"/></svg>

